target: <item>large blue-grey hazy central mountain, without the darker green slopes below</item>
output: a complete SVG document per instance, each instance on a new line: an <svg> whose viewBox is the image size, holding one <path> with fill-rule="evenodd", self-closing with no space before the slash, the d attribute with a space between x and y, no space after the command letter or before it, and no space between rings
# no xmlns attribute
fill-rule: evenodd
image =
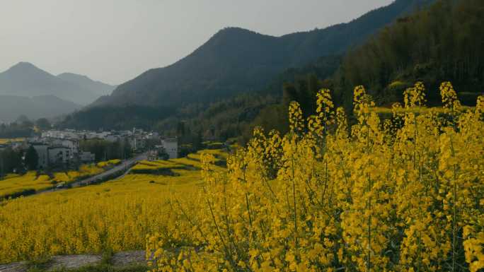
<svg viewBox="0 0 484 272"><path fill-rule="evenodd" d="M278 73L319 57L342 54L399 16L432 1L397 0L350 23L281 37L226 28L188 57L142 73L91 106L178 107L260 90Z"/></svg>

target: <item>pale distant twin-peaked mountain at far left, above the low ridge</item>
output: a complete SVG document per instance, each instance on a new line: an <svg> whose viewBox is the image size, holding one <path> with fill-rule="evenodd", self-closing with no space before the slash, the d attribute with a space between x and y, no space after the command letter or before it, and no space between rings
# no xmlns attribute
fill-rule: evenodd
<svg viewBox="0 0 484 272"><path fill-rule="evenodd" d="M105 93L108 89L103 83L74 74L54 76L28 62L20 62L0 73L0 95L55 95L62 100L87 105Z"/></svg>

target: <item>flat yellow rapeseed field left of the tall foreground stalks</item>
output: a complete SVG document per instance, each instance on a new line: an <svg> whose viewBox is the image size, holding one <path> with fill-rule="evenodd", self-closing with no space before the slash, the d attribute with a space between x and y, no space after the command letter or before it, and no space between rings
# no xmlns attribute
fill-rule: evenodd
<svg viewBox="0 0 484 272"><path fill-rule="evenodd" d="M167 163L181 162L190 170L175 167L175 176L125 175L96 186L4 201L0 263L105 249L144 249L146 235L175 219L168 205L171 196L176 192L190 198L200 189L200 162L175 159ZM29 175L35 177L35 173Z"/></svg>

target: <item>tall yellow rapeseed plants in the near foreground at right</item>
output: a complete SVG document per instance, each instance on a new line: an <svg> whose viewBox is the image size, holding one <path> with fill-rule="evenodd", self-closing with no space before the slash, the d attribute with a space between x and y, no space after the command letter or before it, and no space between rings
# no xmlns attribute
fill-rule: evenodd
<svg viewBox="0 0 484 272"><path fill-rule="evenodd" d="M147 237L153 271L484 268L484 97L464 109L443 83L446 110L416 114L417 83L381 120L359 86L349 128L329 93L307 120L290 103L285 136L255 129L228 172L201 156L202 189Z"/></svg>

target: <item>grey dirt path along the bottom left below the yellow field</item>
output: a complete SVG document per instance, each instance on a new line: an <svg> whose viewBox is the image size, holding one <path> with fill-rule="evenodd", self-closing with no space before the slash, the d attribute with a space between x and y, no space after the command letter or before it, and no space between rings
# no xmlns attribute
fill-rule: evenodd
<svg viewBox="0 0 484 272"><path fill-rule="evenodd" d="M100 264L102 256L100 254L84 255L61 255L53 256L47 264L45 271L56 271L65 269L76 269L83 266L96 266ZM131 252L118 252L113 254L111 264L116 268L125 266L144 265L145 253L143 250ZM0 272L27 272L29 269L28 262L20 261L11 264L0 264Z"/></svg>

